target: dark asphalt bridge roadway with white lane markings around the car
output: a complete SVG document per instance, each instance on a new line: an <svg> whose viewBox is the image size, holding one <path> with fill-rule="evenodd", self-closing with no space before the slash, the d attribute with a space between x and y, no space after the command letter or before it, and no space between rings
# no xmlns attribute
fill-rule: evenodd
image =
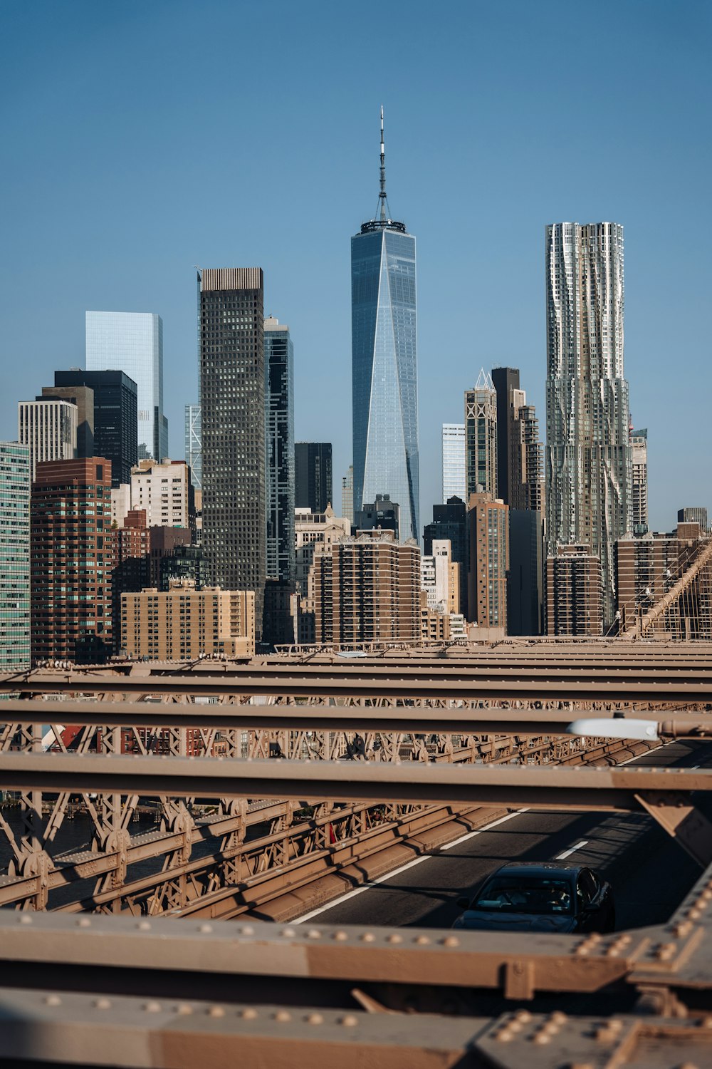
<svg viewBox="0 0 712 1069"><path fill-rule="evenodd" d="M675 742L630 763L710 768L712 746ZM497 866L508 861L553 861L563 854L596 868L612 883L619 930L667 920L700 872L644 814L527 809L415 858L296 923L314 918L328 925L449 928L459 912L457 898L474 893Z"/></svg>

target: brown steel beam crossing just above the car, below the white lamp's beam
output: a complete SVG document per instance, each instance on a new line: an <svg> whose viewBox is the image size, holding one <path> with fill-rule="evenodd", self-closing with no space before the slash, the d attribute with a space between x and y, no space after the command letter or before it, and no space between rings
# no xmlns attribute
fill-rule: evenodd
<svg viewBox="0 0 712 1069"><path fill-rule="evenodd" d="M323 797L630 811L642 792L712 790L712 770L244 761L209 757L0 755L10 790L123 792L175 797Z"/></svg>

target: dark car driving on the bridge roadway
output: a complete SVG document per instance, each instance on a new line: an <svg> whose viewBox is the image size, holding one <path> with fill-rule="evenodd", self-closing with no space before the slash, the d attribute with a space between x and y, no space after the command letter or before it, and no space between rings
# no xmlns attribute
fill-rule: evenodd
<svg viewBox="0 0 712 1069"><path fill-rule="evenodd" d="M453 928L480 931L612 932L611 884L592 869L566 863L510 862L489 877Z"/></svg>

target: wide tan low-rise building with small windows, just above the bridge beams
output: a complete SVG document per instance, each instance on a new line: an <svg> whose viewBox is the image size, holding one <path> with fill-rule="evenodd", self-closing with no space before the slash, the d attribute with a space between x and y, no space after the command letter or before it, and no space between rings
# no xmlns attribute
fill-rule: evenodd
<svg viewBox="0 0 712 1069"><path fill-rule="evenodd" d="M224 653L252 656L255 595L252 590L197 590L192 579L167 591L149 587L122 594L122 648L152 661L194 661Z"/></svg>

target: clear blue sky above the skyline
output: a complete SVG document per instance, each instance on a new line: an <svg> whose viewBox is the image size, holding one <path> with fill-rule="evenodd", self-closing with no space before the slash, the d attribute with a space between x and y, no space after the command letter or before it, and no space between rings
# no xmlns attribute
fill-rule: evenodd
<svg viewBox="0 0 712 1069"><path fill-rule="evenodd" d="M696 0L0 3L0 437L83 366L84 310L163 317L171 452L197 400L195 272L258 264L296 435L351 456L349 237L417 236L421 515L440 424L519 366L543 432L543 232L626 228L626 374L651 523L710 493L710 45ZM707 235L707 236L706 236Z"/></svg>

